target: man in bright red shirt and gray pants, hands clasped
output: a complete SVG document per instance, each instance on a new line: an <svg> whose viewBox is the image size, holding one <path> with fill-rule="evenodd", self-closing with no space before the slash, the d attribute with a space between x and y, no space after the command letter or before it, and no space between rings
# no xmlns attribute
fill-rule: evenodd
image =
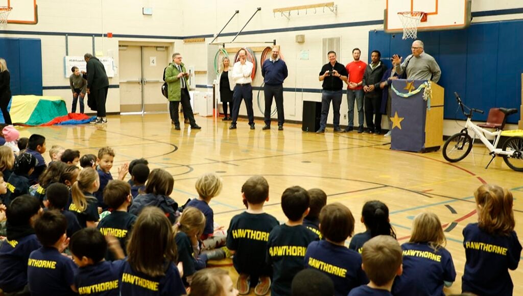
<svg viewBox="0 0 523 296"><path fill-rule="evenodd" d="M358 133L363 132L363 73L367 64L359 60L361 51L359 48L353 49L354 61L345 66L349 73L348 87L347 87L347 104L349 105L349 124L344 132L353 130L354 127L354 101L358 106Z"/></svg>

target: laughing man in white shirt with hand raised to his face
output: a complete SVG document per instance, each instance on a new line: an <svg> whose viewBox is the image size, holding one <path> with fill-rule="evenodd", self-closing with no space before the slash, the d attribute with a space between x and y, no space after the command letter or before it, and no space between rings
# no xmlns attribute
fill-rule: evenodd
<svg viewBox="0 0 523 296"><path fill-rule="evenodd" d="M254 130L253 87L251 85L251 82L253 82L251 78L253 63L247 61L247 51L245 49L241 49L240 52L238 52L238 58L240 58L240 61L234 63L232 68L232 78L236 86L234 87L234 94L232 96L232 122L229 129L236 129L236 120L238 119L238 113L240 113L240 105L243 99L245 101L245 107L247 108L249 126Z"/></svg>

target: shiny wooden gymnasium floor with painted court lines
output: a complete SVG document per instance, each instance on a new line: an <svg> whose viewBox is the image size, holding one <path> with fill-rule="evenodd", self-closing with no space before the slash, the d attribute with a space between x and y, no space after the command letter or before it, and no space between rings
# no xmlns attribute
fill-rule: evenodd
<svg viewBox="0 0 523 296"><path fill-rule="evenodd" d="M48 149L60 144L82 154L96 154L100 147L111 146L116 151L113 176L124 162L145 157L151 168L161 167L173 174L172 197L180 204L196 196L194 183L200 174L218 173L224 188L211 201L211 207L214 221L225 227L233 215L244 210L240 190L252 175L267 178L270 200L265 210L281 222L286 220L279 203L281 193L294 185L321 188L328 195L327 202L349 207L357 221L356 233L365 230L359 222L363 203L373 199L385 202L400 243L408 241L417 213L433 211L444 224L447 248L458 274L447 293L461 291L465 260L461 232L465 225L476 222L473 192L477 187L486 182L511 189L516 221L523 219L523 175L509 169L502 158L485 170L490 156L479 145L463 161L450 164L441 151L391 151L390 138L383 135L335 134L332 128L325 134L315 134L302 132L298 124L286 124L284 131L278 131L273 124L270 131L263 131L263 122L256 120L256 130L251 131L242 120L238 121L238 129L231 131L229 122L197 117L202 130L191 131L186 124L181 131L175 131L167 114L109 116L108 120L105 126L20 128L20 136L40 133L46 136ZM523 236L520 223L516 224L516 232ZM235 281L237 275L230 260L213 265L228 268ZM523 292L522 270L520 267L511 272L515 295Z"/></svg>

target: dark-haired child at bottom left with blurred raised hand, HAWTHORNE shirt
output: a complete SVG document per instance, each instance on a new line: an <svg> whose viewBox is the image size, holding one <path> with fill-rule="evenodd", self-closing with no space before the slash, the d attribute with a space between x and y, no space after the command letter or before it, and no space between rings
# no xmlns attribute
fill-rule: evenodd
<svg viewBox="0 0 523 296"><path fill-rule="evenodd" d="M118 296L123 260L105 261L107 242L95 228L84 228L71 237L69 245L78 265L74 284L81 295ZM121 254L123 256L123 253Z"/></svg>

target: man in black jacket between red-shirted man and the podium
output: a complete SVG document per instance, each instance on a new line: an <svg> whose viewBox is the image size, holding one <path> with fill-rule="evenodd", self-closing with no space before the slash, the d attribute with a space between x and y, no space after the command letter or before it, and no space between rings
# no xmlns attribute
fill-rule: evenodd
<svg viewBox="0 0 523 296"><path fill-rule="evenodd" d="M363 92L365 92L365 120L367 121L367 128L369 133L381 133L381 88L380 80L383 73L387 70L381 61L381 53L377 50L370 54L371 62L365 69L363 74ZM372 115L374 122L372 122Z"/></svg>

